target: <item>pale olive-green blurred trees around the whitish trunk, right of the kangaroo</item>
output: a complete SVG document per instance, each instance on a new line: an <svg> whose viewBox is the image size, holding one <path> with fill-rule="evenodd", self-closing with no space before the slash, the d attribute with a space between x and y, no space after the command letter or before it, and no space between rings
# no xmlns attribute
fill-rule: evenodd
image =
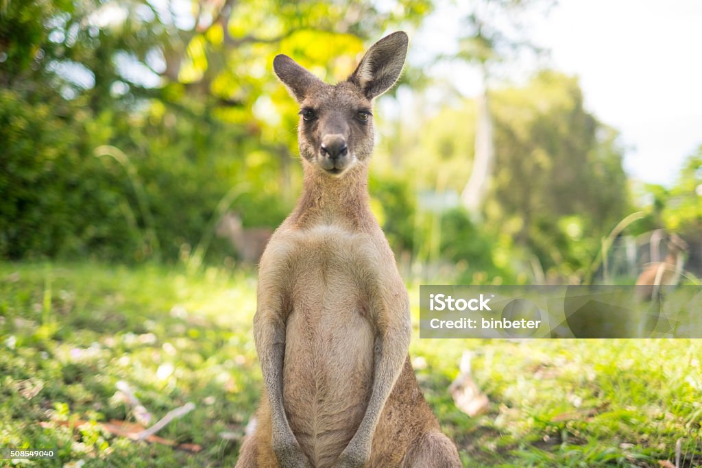
<svg viewBox="0 0 702 468"><path fill-rule="evenodd" d="M482 282L485 274L521 283L534 269L554 281L579 281L602 236L630 212L617 133L583 108L578 81L557 72L497 88L490 100L496 158L482 219L420 211L415 251L420 259L438 260L439 253L468 262L458 265L460 281ZM407 121L380 151L399 161L415 193L458 199L472 171L476 118L472 100L457 100L424 121ZM395 158L397 148L402 156ZM422 257L428 249L434 253Z"/></svg>

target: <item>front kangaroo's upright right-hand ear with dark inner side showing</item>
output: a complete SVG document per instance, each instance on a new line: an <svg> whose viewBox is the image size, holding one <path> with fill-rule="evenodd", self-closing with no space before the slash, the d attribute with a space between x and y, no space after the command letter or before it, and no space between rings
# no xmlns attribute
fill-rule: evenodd
<svg viewBox="0 0 702 468"><path fill-rule="evenodd" d="M407 34L402 31L383 37L369 48L348 81L361 88L369 99L385 93L402 72L408 43Z"/></svg>

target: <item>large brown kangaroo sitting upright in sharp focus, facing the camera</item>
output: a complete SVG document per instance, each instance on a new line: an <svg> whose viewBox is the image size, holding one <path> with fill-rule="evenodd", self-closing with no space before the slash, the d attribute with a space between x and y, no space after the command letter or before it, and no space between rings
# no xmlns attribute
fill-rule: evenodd
<svg viewBox="0 0 702 468"><path fill-rule="evenodd" d="M369 208L371 104L397 81L407 44L386 36L336 86L273 61L301 108L304 189L260 261L265 385L237 467L461 467L409 363L407 291Z"/></svg>

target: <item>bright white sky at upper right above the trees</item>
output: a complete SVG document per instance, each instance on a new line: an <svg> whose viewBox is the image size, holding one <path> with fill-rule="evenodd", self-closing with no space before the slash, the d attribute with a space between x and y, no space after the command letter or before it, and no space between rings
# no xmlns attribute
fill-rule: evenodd
<svg viewBox="0 0 702 468"><path fill-rule="evenodd" d="M413 38L418 62L451 52L459 16L446 6L425 22ZM586 107L621 132L628 173L672 185L702 144L702 1L561 0L530 27L536 44L550 49L551 66L580 77ZM463 93L477 93L475 74L460 71L431 73L453 75Z"/></svg>

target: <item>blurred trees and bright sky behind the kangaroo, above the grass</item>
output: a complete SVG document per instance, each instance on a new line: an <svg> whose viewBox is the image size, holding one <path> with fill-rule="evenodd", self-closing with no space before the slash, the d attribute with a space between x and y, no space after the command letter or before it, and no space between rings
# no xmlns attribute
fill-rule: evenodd
<svg viewBox="0 0 702 468"><path fill-rule="evenodd" d="M272 58L333 83L405 29L406 70L376 105L370 184L404 274L633 283L674 233L694 279L702 10L661 10L4 0L0 258L255 263L300 192L297 109Z"/></svg>

